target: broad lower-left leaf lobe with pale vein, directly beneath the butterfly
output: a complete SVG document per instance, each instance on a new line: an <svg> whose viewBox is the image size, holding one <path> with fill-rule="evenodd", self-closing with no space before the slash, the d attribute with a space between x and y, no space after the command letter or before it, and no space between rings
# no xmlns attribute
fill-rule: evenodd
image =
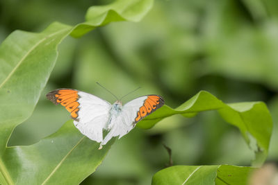
<svg viewBox="0 0 278 185"><path fill-rule="evenodd" d="M83 136L72 121L67 121L58 132L38 143L6 149L3 159L8 182L79 184L95 171L114 141L98 150L99 143Z"/></svg>

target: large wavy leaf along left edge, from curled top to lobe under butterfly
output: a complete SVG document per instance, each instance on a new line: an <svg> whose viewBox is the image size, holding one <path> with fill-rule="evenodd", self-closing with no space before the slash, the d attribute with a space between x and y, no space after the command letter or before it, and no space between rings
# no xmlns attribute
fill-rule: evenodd
<svg viewBox="0 0 278 185"><path fill-rule="evenodd" d="M111 21L139 21L152 7L152 0L120 0L101 7L101 12L91 8L83 24L53 23L42 33L17 30L1 44L0 184L78 184L106 155L109 146L98 151L97 143L81 136L71 122L32 146L7 147L15 126L38 103L58 57L58 44L71 33L81 36Z"/></svg>

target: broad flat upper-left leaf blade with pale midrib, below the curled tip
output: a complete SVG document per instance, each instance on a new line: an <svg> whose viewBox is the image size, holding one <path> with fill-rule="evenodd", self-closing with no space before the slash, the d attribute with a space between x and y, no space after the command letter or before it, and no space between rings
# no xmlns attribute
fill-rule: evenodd
<svg viewBox="0 0 278 185"><path fill-rule="evenodd" d="M6 147L13 128L31 116L54 67L56 48L70 30L60 23L42 33L17 30L1 44L0 148Z"/></svg>

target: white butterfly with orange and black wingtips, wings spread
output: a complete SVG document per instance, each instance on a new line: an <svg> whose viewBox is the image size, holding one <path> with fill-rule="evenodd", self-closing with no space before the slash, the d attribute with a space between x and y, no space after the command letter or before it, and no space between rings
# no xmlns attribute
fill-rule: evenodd
<svg viewBox="0 0 278 185"><path fill-rule="evenodd" d="M63 105L75 127L85 136L100 143L102 148L115 136L119 139L129 133L136 123L152 114L164 105L164 100L158 95L146 95L135 98L125 105L116 100L111 105L92 94L75 89L55 89L47 94L47 98L55 105ZM103 130L108 133L103 137Z"/></svg>

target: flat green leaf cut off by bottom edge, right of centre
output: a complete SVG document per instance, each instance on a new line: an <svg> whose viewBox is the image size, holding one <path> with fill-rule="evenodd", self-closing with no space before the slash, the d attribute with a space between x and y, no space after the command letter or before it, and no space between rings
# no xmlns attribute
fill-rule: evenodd
<svg viewBox="0 0 278 185"><path fill-rule="evenodd" d="M172 166L158 171L152 178L156 184L247 184L255 168L239 166Z"/></svg>

